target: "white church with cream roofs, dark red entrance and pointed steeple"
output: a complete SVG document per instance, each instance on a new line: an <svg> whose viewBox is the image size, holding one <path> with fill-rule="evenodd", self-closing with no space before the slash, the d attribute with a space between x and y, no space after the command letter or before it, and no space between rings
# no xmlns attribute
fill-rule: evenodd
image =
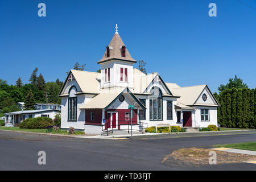
<svg viewBox="0 0 256 182"><path fill-rule="evenodd" d="M116 30L101 60L101 73L71 70L60 90L61 128L87 134L144 130L156 125L217 126L216 98L207 85L180 87L159 73L145 74ZM130 114L129 106L134 106Z"/></svg>

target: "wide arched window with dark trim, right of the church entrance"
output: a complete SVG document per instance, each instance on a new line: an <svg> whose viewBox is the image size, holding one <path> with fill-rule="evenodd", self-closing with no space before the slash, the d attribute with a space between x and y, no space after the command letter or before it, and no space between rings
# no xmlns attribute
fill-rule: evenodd
<svg viewBox="0 0 256 182"><path fill-rule="evenodd" d="M150 120L163 120L163 97L162 91L153 86L150 93Z"/></svg>

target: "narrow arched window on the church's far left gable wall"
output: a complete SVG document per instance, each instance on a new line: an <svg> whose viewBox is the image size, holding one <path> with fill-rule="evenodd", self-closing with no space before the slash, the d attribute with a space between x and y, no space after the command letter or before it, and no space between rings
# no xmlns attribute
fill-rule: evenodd
<svg viewBox="0 0 256 182"><path fill-rule="evenodd" d="M77 89L71 86L68 93L68 121L75 122L77 119Z"/></svg>

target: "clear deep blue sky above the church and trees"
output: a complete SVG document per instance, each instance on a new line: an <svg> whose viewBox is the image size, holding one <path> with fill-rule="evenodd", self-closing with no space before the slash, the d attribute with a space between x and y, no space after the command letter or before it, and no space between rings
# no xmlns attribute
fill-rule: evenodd
<svg viewBox="0 0 256 182"><path fill-rule="evenodd" d="M256 1L241 0L256 9ZM46 3L47 16L38 16ZM217 17L208 5L217 5ZM28 83L39 68L46 81L64 81L76 61L100 68L118 32L148 73L180 86L208 84L212 92L236 74L256 87L256 10L237 0L0 1L1 77ZM138 65L135 65L137 67Z"/></svg>

